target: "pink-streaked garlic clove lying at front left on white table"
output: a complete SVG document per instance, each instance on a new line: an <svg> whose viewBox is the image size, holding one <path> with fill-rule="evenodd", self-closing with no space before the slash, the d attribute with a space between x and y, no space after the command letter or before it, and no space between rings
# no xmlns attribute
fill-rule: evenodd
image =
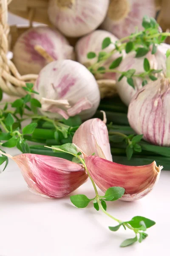
<svg viewBox="0 0 170 256"><path fill-rule="evenodd" d="M31 192L48 198L69 195L88 179L84 168L74 162L37 154L20 154L12 159Z"/></svg>

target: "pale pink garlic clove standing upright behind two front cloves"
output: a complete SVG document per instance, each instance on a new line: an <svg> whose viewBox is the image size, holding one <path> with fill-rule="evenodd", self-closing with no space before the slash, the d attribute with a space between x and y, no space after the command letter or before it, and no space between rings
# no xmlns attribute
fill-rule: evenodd
<svg viewBox="0 0 170 256"><path fill-rule="evenodd" d="M108 129L99 118L83 122L73 136L73 143L88 156L95 153L95 156L112 161Z"/></svg>

